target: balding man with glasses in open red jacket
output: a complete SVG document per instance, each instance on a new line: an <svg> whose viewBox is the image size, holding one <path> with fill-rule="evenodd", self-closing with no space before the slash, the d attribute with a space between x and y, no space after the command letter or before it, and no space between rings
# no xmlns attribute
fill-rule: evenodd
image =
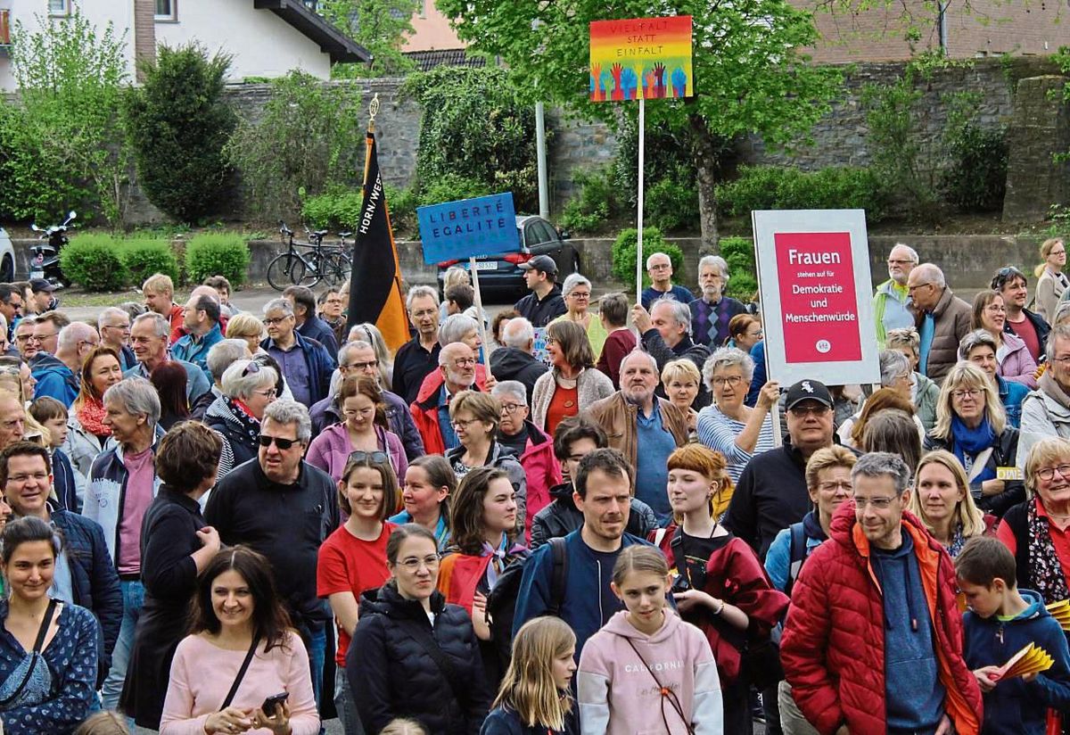
<svg viewBox="0 0 1070 735"><path fill-rule="evenodd" d="M445 454L460 444L449 418L449 401L461 391L487 389L475 366L475 352L468 344L446 344L439 352L439 371L424 380L416 400L409 407L427 454Z"/></svg>

